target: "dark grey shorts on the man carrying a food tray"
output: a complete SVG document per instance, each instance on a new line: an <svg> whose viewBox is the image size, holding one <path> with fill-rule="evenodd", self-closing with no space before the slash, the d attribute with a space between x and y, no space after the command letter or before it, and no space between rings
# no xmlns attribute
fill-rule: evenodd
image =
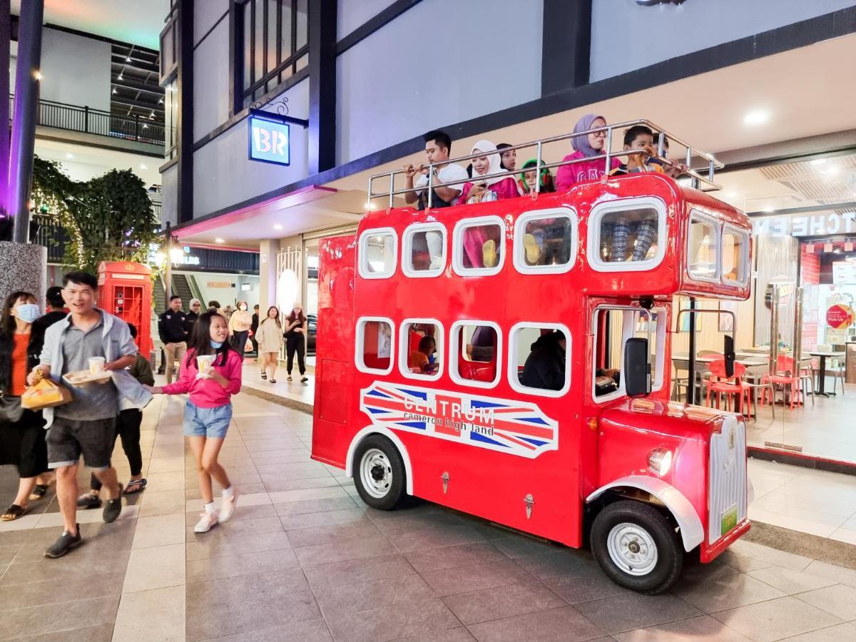
<svg viewBox="0 0 856 642"><path fill-rule="evenodd" d="M95 470L110 467L116 433L116 417L76 421L56 417L48 428L48 467L74 466L83 455L86 466Z"/></svg>

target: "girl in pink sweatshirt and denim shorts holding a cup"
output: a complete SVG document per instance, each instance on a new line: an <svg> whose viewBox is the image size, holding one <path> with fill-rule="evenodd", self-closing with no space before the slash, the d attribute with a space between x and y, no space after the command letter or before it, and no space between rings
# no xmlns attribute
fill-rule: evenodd
<svg viewBox="0 0 856 642"><path fill-rule="evenodd" d="M211 526L229 520L238 503L238 490L217 463L223 439L232 420L232 395L241 391L241 355L229 345L229 325L217 312L205 312L193 326L187 354L181 362L179 378L165 386L148 387L152 393L190 393L184 408L184 436L196 459L199 490L204 510L194 532L208 532ZM219 512L214 506L211 478L223 487Z"/></svg>

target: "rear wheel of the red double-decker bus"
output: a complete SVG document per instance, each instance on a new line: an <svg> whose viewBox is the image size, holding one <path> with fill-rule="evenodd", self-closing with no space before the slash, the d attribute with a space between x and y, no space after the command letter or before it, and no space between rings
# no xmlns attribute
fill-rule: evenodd
<svg viewBox="0 0 856 642"><path fill-rule="evenodd" d="M395 444L383 435L370 435L354 455L354 485L372 508L389 510L405 495L404 461Z"/></svg>

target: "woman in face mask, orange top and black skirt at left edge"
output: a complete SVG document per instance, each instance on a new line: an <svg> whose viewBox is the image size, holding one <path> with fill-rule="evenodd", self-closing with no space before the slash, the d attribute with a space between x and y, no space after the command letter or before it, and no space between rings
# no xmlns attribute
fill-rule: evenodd
<svg viewBox="0 0 856 642"><path fill-rule="evenodd" d="M45 494L33 493L39 476L48 471L45 422L41 412L20 407L27 372L39 365L39 355L30 348L33 321L40 314L33 294L19 291L6 298L0 317L0 391L5 397L0 419L0 464L15 464L21 479L15 501L0 517L3 521L17 520L27 514L28 500L40 499ZM43 481L39 484L46 490Z"/></svg>

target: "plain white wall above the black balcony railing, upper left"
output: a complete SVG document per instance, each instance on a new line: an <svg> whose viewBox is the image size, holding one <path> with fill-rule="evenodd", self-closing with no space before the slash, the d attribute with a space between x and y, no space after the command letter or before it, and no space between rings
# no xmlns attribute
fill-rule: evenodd
<svg viewBox="0 0 856 642"><path fill-rule="evenodd" d="M110 111L110 43L45 27L41 98Z"/></svg>

